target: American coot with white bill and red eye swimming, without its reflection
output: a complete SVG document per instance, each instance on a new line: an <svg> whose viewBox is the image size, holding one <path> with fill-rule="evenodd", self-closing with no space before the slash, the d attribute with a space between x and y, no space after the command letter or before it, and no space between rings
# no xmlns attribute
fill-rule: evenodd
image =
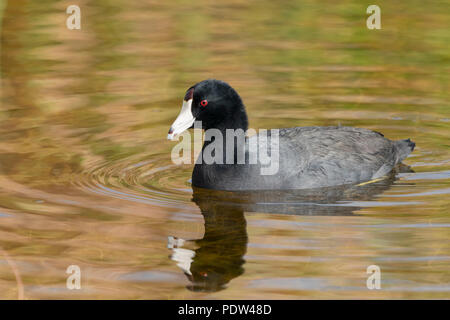
<svg viewBox="0 0 450 320"><path fill-rule="evenodd" d="M168 139L173 139L194 122L201 121L201 128L214 129L222 133L223 158L229 152L227 129L247 131L248 120L244 104L238 93L227 83L219 80L204 80L189 88L178 118L169 130ZM391 141L383 134L352 127L295 127L278 129L277 141L267 138L271 148L278 152L275 157L276 172L262 174L260 163L235 161L206 163L197 161L192 173L194 187L217 190L279 190L309 189L344 184L360 183L388 174L410 154L415 146L411 140ZM245 138L242 147L245 159L252 157L252 143L259 136ZM231 137L233 141L235 137ZM205 152L211 141L206 141ZM229 141L228 141L229 142ZM232 157L239 154L234 150ZM273 150L272 150L273 151ZM217 150L215 151L217 152Z"/></svg>

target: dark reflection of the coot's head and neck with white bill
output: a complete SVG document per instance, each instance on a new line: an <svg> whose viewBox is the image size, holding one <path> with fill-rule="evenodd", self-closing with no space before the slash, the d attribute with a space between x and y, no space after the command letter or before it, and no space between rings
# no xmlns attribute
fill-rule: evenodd
<svg viewBox="0 0 450 320"><path fill-rule="evenodd" d="M204 192L204 193L203 193ZM192 283L192 291L214 292L225 288L231 280L244 273L247 251L247 229L244 210L227 201L216 201L210 190L195 190L193 201L205 219L205 234L195 240L197 249L180 248L185 241L169 237L173 247L172 260L184 271Z"/></svg>

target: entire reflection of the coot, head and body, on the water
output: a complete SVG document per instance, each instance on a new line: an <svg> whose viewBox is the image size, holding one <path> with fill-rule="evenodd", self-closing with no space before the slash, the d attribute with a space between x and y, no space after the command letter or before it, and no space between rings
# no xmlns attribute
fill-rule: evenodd
<svg viewBox="0 0 450 320"><path fill-rule="evenodd" d="M403 168L403 172L407 168ZM184 271L192 291L215 292L244 273L247 230L244 212L289 215L352 216L390 188L392 173L380 181L310 190L217 191L194 188L193 199L205 220L205 234L195 250L184 249L185 240L169 237L171 259Z"/></svg>

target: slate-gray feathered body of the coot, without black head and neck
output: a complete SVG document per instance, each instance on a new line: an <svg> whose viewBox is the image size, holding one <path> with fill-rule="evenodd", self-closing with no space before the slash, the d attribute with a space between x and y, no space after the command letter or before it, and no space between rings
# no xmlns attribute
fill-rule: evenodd
<svg viewBox="0 0 450 320"><path fill-rule="evenodd" d="M249 156L246 140L246 155ZM409 139L391 141L353 127L279 129L279 168L261 175L260 164L196 164L195 187L218 190L310 189L353 184L388 174L414 149ZM248 159L248 158L247 158Z"/></svg>

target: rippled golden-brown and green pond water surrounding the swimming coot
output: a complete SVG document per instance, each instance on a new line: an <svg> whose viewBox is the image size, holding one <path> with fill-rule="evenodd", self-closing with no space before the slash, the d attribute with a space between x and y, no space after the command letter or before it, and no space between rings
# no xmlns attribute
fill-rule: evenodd
<svg viewBox="0 0 450 320"><path fill-rule="evenodd" d="M450 298L447 2L379 1L380 30L356 0L82 0L80 30L70 4L0 2L0 298ZM416 149L349 188L193 190L166 136L207 78L251 128Z"/></svg>

